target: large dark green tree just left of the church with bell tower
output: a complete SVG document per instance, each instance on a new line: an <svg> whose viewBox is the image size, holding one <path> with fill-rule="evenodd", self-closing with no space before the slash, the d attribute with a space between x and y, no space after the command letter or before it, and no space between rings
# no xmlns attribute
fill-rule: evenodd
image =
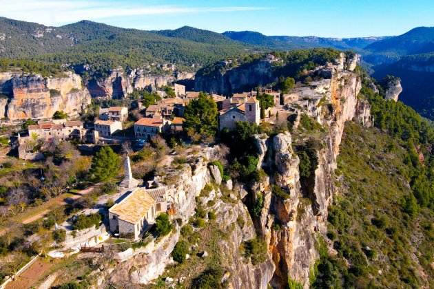
<svg viewBox="0 0 434 289"><path fill-rule="evenodd" d="M185 107L183 128L192 129L200 136L214 136L218 126L217 114L214 100L200 92L199 97Z"/></svg>

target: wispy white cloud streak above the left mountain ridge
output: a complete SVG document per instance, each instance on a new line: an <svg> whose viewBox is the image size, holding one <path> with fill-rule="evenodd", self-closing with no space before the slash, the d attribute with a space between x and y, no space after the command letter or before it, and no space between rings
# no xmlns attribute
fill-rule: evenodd
<svg viewBox="0 0 434 289"><path fill-rule="evenodd" d="M87 19L98 21L114 17L144 16L156 14L192 14L204 12L240 12L268 10L265 7L223 6L127 6L125 2L73 1L73 0L0 0L0 15L11 19L62 25Z"/></svg>

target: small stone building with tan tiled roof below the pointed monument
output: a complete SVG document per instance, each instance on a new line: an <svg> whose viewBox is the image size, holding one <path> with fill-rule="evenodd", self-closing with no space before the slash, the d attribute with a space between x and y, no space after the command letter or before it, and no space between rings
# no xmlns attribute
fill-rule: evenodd
<svg viewBox="0 0 434 289"><path fill-rule="evenodd" d="M138 239L160 213L167 211L165 188L136 188L109 209L110 231Z"/></svg>

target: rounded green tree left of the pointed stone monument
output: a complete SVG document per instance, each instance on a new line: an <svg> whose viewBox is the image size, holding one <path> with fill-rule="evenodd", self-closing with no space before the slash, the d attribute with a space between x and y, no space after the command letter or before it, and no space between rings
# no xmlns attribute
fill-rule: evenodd
<svg viewBox="0 0 434 289"><path fill-rule="evenodd" d="M119 171L121 160L111 147L103 147L92 158L90 179L94 182L110 180Z"/></svg>

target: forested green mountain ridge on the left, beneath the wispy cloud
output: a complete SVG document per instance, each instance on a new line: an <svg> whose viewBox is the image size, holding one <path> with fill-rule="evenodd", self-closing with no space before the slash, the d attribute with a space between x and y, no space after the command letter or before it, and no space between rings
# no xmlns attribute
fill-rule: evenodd
<svg viewBox="0 0 434 289"><path fill-rule="evenodd" d="M0 57L90 64L99 72L145 62L203 65L248 51L242 43L196 28L147 32L92 21L50 27L0 18Z"/></svg>

